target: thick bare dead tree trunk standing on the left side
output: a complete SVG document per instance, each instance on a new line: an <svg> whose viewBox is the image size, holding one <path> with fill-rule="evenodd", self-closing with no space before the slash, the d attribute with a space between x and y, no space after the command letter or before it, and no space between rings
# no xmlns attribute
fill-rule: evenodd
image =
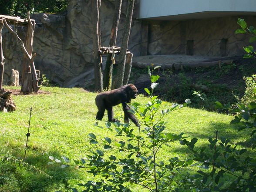
<svg viewBox="0 0 256 192"><path fill-rule="evenodd" d="M25 87L24 81L27 81L28 79L30 79L30 77L26 77L26 75L31 75L31 73L30 73L31 67L32 67L32 80L31 80L32 88L33 88L34 92L37 92L40 88L38 86L38 78L37 78L36 68L34 65L34 61L32 59L35 21L30 20L29 12L27 13L27 18L28 18L28 26L27 26L27 34L26 34L26 38L25 38L25 48L26 48L27 53L29 54L31 59L27 58L25 55L23 57L21 91L24 94L30 93L31 88ZM25 84L26 84L26 86L31 85L30 83L27 83L27 82Z"/></svg>

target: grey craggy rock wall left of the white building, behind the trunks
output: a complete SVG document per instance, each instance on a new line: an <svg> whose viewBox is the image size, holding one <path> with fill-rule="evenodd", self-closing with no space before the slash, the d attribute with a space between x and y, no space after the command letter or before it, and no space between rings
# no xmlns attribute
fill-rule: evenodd
<svg viewBox="0 0 256 192"><path fill-rule="evenodd" d="M109 45L115 0L101 0L102 46ZM134 17L138 4L135 4ZM31 14L36 20L34 33L35 66L47 78L64 87L83 87L93 76L93 45L91 0L70 0L64 15ZM120 46L126 3L124 1L118 31ZM24 39L26 28L19 27L18 34ZM128 47L139 55L141 51L141 22L134 18ZM22 54L7 29L3 31L3 54L6 57L4 84L10 80L11 69L20 71Z"/></svg>

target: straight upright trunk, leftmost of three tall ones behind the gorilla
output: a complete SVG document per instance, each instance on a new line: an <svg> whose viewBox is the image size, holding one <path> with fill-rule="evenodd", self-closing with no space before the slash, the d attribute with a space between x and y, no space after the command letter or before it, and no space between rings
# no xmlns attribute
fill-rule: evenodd
<svg viewBox="0 0 256 192"><path fill-rule="evenodd" d="M100 38L99 38L99 4L98 0L92 0L93 14L92 14L92 26L93 26L93 48L94 48L94 79L95 90L103 91L102 87L102 63L101 55L98 54L100 50Z"/></svg>

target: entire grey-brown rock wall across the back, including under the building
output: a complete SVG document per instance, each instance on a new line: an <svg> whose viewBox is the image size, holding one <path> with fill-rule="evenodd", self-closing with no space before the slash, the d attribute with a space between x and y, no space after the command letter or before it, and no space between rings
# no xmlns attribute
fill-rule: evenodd
<svg viewBox="0 0 256 192"><path fill-rule="evenodd" d="M108 46L115 0L101 0L101 40ZM120 46L125 21L124 0L117 46ZM64 87L85 86L93 79L93 47L91 0L70 0L65 15L32 14L36 20L34 34L35 65L41 74ZM187 54L187 41L193 40L194 55L221 55L223 41L226 55L242 55L249 36L235 35L239 28L238 17L222 17L185 21L137 20L138 3L128 48L139 55ZM243 17L249 25L256 26L256 16ZM26 28L19 27L24 38ZM20 71L22 54L16 41L4 27L3 51L6 57L4 83L10 80L11 69Z"/></svg>

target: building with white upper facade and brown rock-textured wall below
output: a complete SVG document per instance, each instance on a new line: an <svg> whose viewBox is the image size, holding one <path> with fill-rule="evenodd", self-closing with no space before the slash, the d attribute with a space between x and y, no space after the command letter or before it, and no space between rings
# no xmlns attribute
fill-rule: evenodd
<svg viewBox="0 0 256 192"><path fill-rule="evenodd" d="M256 0L140 0L141 55L241 55L239 17L256 26Z"/></svg>

